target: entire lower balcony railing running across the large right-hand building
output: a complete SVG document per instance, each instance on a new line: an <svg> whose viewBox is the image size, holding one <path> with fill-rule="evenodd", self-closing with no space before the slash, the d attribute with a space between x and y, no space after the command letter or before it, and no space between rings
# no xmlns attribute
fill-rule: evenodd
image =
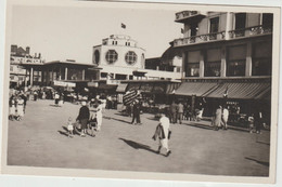
<svg viewBox="0 0 282 187"><path fill-rule="evenodd" d="M229 39L268 35L268 34L272 34L272 28L262 25L228 31ZM174 41L174 45L181 46L181 45L189 45L194 43L218 41L218 40L227 40L226 31L176 39Z"/></svg>

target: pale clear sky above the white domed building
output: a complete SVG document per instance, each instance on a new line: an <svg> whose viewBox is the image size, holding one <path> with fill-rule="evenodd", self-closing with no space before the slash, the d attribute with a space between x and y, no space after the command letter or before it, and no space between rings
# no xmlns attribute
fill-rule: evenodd
<svg viewBox="0 0 282 187"><path fill-rule="evenodd" d="M158 57L183 27L175 22L182 10L14 5L12 11L11 44L30 46L31 54L41 53L47 62L91 63L92 46L115 34L138 41L146 58Z"/></svg>

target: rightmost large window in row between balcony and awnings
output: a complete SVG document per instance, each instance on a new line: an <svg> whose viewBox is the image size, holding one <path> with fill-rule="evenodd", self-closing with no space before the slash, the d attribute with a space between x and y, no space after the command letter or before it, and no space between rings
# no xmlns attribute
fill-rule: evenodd
<svg viewBox="0 0 282 187"><path fill-rule="evenodd" d="M271 42L254 43L252 55L252 76L271 76Z"/></svg>

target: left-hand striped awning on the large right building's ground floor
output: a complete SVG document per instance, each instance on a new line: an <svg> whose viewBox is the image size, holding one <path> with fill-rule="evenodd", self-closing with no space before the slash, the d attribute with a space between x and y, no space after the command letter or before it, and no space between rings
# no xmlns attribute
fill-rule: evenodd
<svg viewBox="0 0 282 187"><path fill-rule="evenodd" d="M176 95L206 96L218 86L214 82L184 82L176 90Z"/></svg>

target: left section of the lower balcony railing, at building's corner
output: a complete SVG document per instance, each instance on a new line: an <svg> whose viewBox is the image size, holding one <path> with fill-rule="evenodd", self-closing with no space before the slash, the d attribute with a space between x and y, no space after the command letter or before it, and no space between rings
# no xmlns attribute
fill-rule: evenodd
<svg viewBox="0 0 282 187"><path fill-rule="evenodd" d="M206 35L198 35L189 38L176 39L174 41L174 44L175 46L181 46L181 45L188 45L193 43L202 43L202 42L225 40L225 39L226 39L226 32L221 31L216 34L206 34Z"/></svg>

